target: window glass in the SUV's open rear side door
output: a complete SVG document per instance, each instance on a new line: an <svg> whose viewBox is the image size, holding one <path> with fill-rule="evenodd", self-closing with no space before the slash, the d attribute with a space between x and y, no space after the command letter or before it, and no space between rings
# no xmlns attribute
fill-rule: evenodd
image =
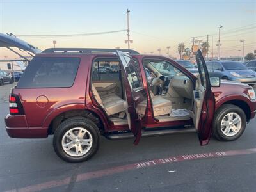
<svg viewBox="0 0 256 192"><path fill-rule="evenodd" d="M127 63L127 74L128 74L128 81L131 84L131 88L139 88L141 87L140 83L140 75L138 74L136 67L133 65L134 62L131 62L131 58L124 56L124 59Z"/></svg>

